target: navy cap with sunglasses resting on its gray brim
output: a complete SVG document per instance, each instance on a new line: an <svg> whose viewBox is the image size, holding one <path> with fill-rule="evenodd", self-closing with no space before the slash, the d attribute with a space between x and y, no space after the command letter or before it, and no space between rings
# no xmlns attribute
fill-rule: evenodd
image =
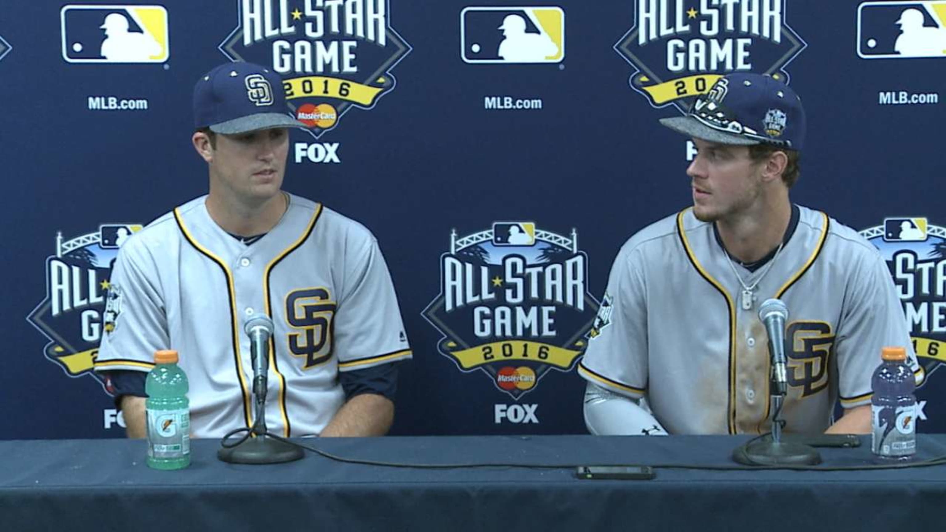
<svg viewBox="0 0 946 532"><path fill-rule="evenodd" d="M801 98L785 83L762 74L727 74L696 99L689 114L661 118L660 123L719 144L774 144L801 151L805 143Z"/></svg>

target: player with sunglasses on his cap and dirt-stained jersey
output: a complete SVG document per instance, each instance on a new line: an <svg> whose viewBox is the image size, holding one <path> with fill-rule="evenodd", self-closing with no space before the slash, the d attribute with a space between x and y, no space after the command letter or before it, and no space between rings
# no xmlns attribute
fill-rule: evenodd
<svg viewBox="0 0 946 532"><path fill-rule="evenodd" d="M881 347L923 372L883 257L853 229L789 201L801 101L768 76L729 74L689 115L692 207L623 245L579 373L592 434L770 430L762 301L788 307L785 431L866 434ZM844 415L832 413L840 400ZM833 422L833 424L832 424Z"/></svg>

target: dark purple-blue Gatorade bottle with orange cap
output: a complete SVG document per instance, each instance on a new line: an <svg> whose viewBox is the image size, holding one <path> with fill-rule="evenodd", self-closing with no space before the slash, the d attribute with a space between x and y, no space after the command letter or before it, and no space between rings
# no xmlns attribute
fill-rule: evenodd
<svg viewBox="0 0 946 532"><path fill-rule="evenodd" d="M882 458L908 460L917 452L917 384L906 364L906 349L884 347L881 358L871 380L871 450Z"/></svg>

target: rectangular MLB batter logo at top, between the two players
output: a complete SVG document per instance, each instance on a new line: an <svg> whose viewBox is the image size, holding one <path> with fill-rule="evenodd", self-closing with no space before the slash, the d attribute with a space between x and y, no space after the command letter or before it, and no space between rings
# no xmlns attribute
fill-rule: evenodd
<svg viewBox="0 0 946 532"><path fill-rule="evenodd" d="M464 8L460 56L469 63L562 62L565 11L553 6Z"/></svg>

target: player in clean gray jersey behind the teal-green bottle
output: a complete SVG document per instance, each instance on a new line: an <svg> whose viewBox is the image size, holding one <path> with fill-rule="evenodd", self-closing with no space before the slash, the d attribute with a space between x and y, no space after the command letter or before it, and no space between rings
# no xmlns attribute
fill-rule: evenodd
<svg viewBox="0 0 946 532"><path fill-rule="evenodd" d="M396 361L411 358L374 236L281 190L289 127L282 80L226 63L194 89L194 148L210 190L120 248L96 359L145 434L145 376L157 349L180 351L194 437L253 426L247 320L272 317L266 420L284 436L385 434Z"/></svg>

